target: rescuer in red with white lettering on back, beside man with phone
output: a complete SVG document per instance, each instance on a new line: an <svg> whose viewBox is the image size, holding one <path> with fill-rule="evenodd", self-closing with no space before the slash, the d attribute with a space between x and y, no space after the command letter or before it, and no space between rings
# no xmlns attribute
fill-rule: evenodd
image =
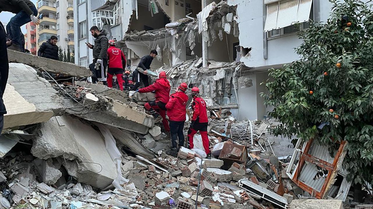
<svg viewBox="0 0 373 209"><path fill-rule="evenodd" d="M113 75L115 74L118 80L119 89L123 91L123 62L126 66L126 57L122 50L115 47L115 40L109 41L109 48L107 49L108 70L107 70L107 87L113 87Z"/></svg>

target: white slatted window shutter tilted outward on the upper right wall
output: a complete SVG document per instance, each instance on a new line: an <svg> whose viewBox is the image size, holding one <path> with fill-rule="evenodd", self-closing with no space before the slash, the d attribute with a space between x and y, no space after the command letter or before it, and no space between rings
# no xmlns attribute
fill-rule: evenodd
<svg viewBox="0 0 373 209"><path fill-rule="evenodd" d="M266 7L264 32L307 22L311 13L312 0L281 0L267 4Z"/></svg>

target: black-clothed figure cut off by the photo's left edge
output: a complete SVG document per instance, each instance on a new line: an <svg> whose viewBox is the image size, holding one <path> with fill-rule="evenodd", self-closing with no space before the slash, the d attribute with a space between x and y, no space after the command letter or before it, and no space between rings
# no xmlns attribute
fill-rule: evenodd
<svg viewBox="0 0 373 209"><path fill-rule="evenodd" d="M3 24L0 22L0 134L4 125L4 114L6 109L3 103L3 93L9 74L8 52L6 50L6 33Z"/></svg>

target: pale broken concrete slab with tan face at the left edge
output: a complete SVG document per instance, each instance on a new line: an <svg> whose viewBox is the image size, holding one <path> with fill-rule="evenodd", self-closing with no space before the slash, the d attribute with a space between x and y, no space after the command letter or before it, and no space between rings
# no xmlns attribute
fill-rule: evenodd
<svg viewBox="0 0 373 209"><path fill-rule="evenodd" d="M34 68L9 63L9 72L3 96L7 109L4 129L45 122L52 116L63 114L57 91L44 78L38 77Z"/></svg>

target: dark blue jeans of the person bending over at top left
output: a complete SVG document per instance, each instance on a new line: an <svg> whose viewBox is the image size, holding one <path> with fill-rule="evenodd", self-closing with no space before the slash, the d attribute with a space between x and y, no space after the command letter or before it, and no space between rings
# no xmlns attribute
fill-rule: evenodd
<svg viewBox="0 0 373 209"><path fill-rule="evenodd" d="M36 9L36 7L31 7L30 9L32 10L32 12L34 12L34 16L38 16L38 10ZM25 48L25 45L22 44L24 40L21 40L20 36L21 26L29 22L31 22L31 18L23 10L10 18L9 23L6 25L6 30L9 35L8 38L12 40L12 45L17 45L21 49Z"/></svg>

